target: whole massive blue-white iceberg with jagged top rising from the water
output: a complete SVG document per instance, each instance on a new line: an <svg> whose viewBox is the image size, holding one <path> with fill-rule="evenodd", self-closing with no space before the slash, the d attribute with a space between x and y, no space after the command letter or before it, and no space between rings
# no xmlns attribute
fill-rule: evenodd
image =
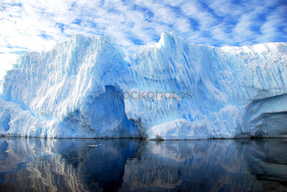
<svg viewBox="0 0 287 192"><path fill-rule="evenodd" d="M172 33L126 54L75 35L28 52L1 81L0 135L52 138L287 137L287 44L194 44ZM191 98L110 98L111 92ZM99 99L100 98L100 99Z"/></svg>

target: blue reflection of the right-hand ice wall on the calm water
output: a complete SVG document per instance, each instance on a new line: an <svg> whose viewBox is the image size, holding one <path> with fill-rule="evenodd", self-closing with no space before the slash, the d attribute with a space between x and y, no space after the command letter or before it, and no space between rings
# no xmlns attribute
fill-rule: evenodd
<svg viewBox="0 0 287 192"><path fill-rule="evenodd" d="M255 144L250 141L142 141L135 158L127 160L122 186L130 191L286 190L249 174L249 154Z"/></svg>

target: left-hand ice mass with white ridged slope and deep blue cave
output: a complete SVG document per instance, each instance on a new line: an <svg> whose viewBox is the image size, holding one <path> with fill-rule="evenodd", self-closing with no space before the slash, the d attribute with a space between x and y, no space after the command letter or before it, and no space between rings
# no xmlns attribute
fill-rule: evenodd
<svg viewBox="0 0 287 192"><path fill-rule="evenodd" d="M140 137L124 101L129 63L110 36L75 35L44 53L26 53L3 79L0 133L33 137ZM7 123L8 122L8 123ZM9 124L9 126L7 125Z"/></svg>

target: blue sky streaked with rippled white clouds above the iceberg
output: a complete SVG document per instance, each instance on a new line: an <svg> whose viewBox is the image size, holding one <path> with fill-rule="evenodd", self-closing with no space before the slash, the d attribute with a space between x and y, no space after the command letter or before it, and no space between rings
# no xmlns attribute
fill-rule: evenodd
<svg viewBox="0 0 287 192"><path fill-rule="evenodd" d="M112 35L133 54L162 32L212 46L287 42L287 1L0 0L0 76L23 53L74 34Z"/></svg>

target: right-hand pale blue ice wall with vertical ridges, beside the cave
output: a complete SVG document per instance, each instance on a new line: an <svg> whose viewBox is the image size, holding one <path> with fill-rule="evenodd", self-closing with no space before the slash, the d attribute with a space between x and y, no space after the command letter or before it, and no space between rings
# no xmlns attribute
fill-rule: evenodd
<svg viewBox="0 0 287 192"><path fill-rule="evenodd" d="M192 92L192 98L130 98L127 117L144 137L286 137L287 45L197 45L162 33L131 61L131 92Z"/></svg>

